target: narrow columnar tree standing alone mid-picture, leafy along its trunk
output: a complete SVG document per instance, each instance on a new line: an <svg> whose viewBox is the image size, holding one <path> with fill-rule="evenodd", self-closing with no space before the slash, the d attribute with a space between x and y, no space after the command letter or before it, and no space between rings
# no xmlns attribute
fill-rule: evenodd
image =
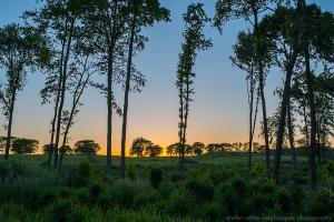
<svg viewBox="0 0 334 222"><path fill-rule="evenodd" d="M184 32L185 42L181 43L183 53L179 54L179 62L177 64L177 81L179 97L179 144L180 144L180 160L179 171L184 171L184 157L186 143L186 129L189 114L189 102L193 101L190 95L194 93L191 84L196 74L193 72L198 50L207 50L213 46L210 39L206 39L203 28L209 18L203 10L203 3L190 4L187 12L183 14L186 30Z"/></svg>

